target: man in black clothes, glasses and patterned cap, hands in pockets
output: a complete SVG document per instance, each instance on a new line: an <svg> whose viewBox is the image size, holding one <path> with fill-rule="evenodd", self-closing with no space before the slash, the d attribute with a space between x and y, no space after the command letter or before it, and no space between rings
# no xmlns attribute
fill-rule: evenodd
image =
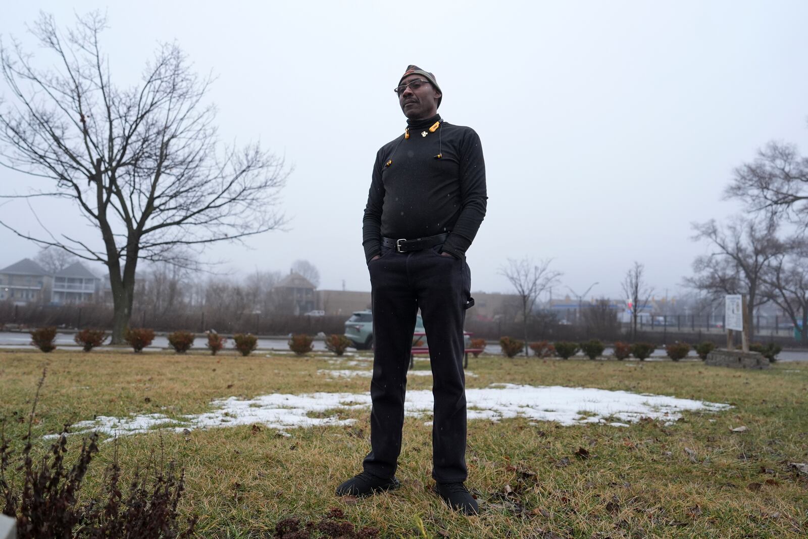
<svg viewBox="0 0 808 539"><path fill-rule="evenodd" d="M337 495L364 496L399 485L406 371L421 310L434 384L432 478L450 507L476 514L464 486L466 410L463 322L471 273L465 251L486 214L486 169L473 129L448 124L433 74L407 67L395 88L407 118L376 155L362 245L373 311L371 451L364 471Z"/></svg>

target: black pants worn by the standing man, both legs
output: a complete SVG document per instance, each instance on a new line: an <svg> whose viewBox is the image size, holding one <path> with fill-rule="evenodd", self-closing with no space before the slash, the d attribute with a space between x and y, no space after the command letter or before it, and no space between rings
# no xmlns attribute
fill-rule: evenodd
<svg viewBox="0 0 808 539"><path fill-rule="evenodd" d="M465 260L440 255L440 246L399 253L383 248L368 263L373 311L373 378L370 385L371 451L364 470L391 478L398 464L404 423L406 372L415 317L421 310L435 397L432 477L463 482L465 467L465 374L463 322L471 272Z"/></svg>

